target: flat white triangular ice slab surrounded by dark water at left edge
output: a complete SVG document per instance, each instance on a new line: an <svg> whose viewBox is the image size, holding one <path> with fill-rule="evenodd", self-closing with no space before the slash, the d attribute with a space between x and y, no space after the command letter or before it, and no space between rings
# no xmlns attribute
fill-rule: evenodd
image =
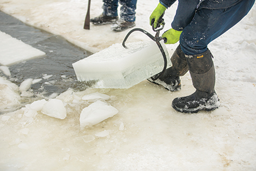
<svg viewBox="0 0 256 171"><path fill-rule="evenodd" d="M0 64L12 65L17 62L45 55L44 52L33 48L20 40L0 31Z"/></svg>

